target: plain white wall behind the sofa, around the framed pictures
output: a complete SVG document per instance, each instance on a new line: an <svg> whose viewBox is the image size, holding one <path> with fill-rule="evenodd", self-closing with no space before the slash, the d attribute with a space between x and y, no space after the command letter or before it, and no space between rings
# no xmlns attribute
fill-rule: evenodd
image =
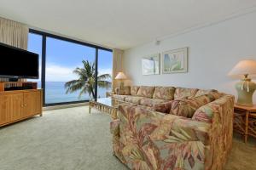
<svg viewBox="0 0 256 170"><path fill-rule="evenodd" d="M188 73L142 75L142 57L183 47L189 47ZM238 80L227 74L241 59L256 59L256 13L168 38L160 45L148 42L128 49L124 61L125 73L134 85L215 88L236 95ZM256 93L253 99L255 103Z"/></svg>

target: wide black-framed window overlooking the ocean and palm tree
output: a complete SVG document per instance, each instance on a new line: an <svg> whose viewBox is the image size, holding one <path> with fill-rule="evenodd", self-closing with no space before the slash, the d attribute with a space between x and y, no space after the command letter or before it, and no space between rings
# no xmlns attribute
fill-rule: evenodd
<svg viewBox="0 0 256 170"><path fill-rule="evenodd" d="M40 55L38 87L44 89L44 105L106 97L111 88L112 50L108 48L31 30L28 50Z"/></svg>

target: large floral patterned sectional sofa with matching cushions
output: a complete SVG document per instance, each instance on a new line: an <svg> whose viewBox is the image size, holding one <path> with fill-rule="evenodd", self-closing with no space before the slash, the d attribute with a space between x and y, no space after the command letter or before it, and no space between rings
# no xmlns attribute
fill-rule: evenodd
<svg viewBox="0 0 256 170"><path fill-rule="evenodd" d="M157 93L154 87L140 93L132 88L135 99L114 96L126 101L119 105L119 119L110 123L113 154L120 161L137 170L224 169L234 96L195 88L161 87ZM143 101L146 95L150 102Z"/></svg>

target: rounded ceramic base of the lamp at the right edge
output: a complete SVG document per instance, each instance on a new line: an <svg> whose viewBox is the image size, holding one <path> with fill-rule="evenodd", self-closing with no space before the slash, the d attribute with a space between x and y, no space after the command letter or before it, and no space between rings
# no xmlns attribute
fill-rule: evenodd
<svg viewBox="0 0 256 170"><path fill-rule="evenodd" d="M241 82L236 83L236 91L238 94L237 105L253 106L253 93L256 84L251 79L244 78Z"/></svg>

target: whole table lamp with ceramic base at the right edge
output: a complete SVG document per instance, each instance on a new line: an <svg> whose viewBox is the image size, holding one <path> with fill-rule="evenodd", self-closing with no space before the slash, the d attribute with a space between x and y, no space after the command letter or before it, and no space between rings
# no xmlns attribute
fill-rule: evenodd
<svg viewBox="0 0 256 170"><path fill-rule="evenodd" d="M238 62L230 71L229 76L241 77L240 82L236 83L236 91L238 94L237 105L253 106L253 92L256 84L251 81L250 77L256 76L256 60L247 59Z"/></svg>

